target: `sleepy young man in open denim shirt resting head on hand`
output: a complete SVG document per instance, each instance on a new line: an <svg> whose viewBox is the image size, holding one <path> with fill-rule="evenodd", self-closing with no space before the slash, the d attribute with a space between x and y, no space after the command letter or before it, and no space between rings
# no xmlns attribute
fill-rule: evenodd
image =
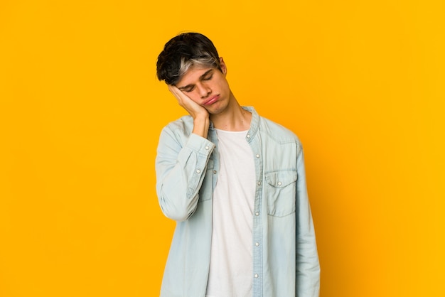
<svg viewBox="0 0 445 297"><path fill-rule="evenodd" d="M156 156L159 204L177 221L161 296L318 296L299 139L240 107L207 37L172 38L156 66L189 114L163 129Z"/></svg>

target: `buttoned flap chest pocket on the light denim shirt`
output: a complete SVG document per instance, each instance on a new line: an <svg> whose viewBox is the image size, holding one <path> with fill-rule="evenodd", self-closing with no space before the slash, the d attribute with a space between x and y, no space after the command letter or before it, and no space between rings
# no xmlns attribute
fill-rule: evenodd
<svg viewBox="0 0 445 297"><path fill-rule="evenodd" d="M263 199L267 200L267 213L284 217L295 212L296 178L295 170L264 173Z"/></svg>

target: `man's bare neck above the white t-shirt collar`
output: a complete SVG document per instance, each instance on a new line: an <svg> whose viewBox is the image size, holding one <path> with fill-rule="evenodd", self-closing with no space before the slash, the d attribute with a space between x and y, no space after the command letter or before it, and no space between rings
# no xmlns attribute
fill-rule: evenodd
<svg viewBox="0 0 445 297"><path fill-rule="evenodd" d="M226 131L245 131L250 128L252 114L243 109L230 93L230 101L227 109L220 114L210 114L210 121L216 129Z"/></svg>

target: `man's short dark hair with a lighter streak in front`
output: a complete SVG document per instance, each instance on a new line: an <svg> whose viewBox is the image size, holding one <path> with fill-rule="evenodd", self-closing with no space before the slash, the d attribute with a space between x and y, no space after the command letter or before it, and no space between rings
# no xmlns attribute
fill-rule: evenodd
<svg viewBox="0 0 445 297"><path fill-rule="evenodd" d="M167 85L175 85L192 66L221 71L218 51L209 38L200 33L181 33L164 45L156 62L156 75Z"/></svg>

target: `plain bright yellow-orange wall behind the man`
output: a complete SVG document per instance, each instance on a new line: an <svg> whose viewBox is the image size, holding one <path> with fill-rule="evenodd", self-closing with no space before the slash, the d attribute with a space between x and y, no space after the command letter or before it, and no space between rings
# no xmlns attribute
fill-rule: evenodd
<svg viewBox="0 0 445 297"><path fill-rule="evenodd" d="M159 295L183 31L303 141L321 296L445 296L445 2L151 2L0 1L0 296Z"/></svg>

